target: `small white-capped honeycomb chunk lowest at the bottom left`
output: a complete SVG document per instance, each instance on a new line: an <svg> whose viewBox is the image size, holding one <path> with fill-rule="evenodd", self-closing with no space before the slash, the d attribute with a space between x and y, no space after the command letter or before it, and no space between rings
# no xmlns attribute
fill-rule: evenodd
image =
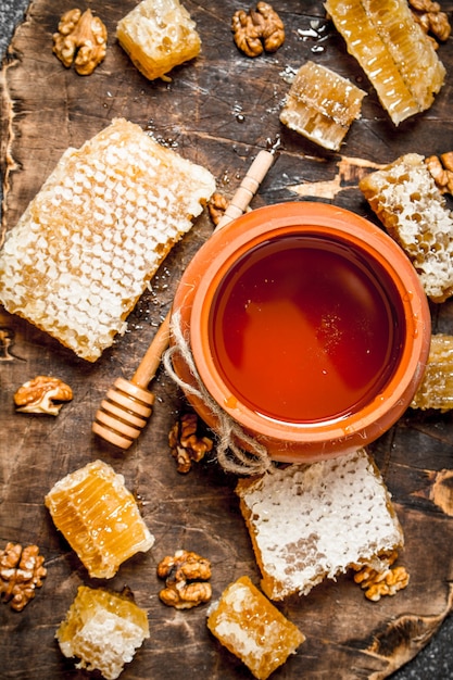
<svg viewBox="0 0 453 680"><path fill-rule="evenodd" d="M76 668L100 670L115 680L150 637L148 617L127 595L80 585L55 638Z"/></svg>

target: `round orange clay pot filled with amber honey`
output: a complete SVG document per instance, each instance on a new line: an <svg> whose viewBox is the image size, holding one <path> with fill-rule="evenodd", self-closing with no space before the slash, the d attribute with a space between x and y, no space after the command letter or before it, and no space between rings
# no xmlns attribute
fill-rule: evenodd
<svg viewBox="0 0 453 680"><path fill-rule="evenodd" d="M215 231L176 312L216 406L280 462L376 440L410 405L429 352L429 307L403 251L324 203L257 209ZM180 354L174 367L197 386ZM213 410L186 393L215 430Z"/></svg>

